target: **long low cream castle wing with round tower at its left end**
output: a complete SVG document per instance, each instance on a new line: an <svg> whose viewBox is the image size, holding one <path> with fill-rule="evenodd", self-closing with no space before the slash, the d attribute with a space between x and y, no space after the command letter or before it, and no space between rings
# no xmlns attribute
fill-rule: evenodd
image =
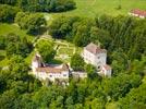
<svg viewBox="0 0 146 109"><path fill-rule="evenodd" d="M41 57L36 55L32 60L33 74L39 80L49 80L50 82L63 82L69 84L68 64L47 64L42 62Z"/></svg>

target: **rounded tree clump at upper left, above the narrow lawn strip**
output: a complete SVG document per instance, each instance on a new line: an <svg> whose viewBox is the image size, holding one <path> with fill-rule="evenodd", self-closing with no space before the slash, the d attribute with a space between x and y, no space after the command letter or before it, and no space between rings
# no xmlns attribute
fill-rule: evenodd
<svg viewBox="0 0 146 109"><path fill-rule="evenodd" d="M37 35L46 25L46 20L44 15L39 13L19 12L15 16L15 23L17 23L22 29L26 29L28 34Z"/></svg>

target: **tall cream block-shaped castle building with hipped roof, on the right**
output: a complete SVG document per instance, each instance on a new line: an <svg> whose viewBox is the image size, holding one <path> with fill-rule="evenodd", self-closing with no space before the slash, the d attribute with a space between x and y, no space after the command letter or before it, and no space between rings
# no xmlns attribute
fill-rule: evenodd
<svg viewBox="0 0 146 109"><path fill-rule="evenodd" d="M82 53L84 61L97 68L99 74L111 76L111 66L107 64L107 50L101 49L97 45L90 43L84 47Z"/></svg>

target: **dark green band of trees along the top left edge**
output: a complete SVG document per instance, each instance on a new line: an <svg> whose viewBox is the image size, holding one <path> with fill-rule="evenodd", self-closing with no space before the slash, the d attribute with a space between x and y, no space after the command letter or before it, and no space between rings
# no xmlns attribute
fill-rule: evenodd
<svg viewBox="0 0 146 109"><path fill-rule="evenodd" d="M73 0L0 0L0 3L15 5L29 12L62 12L75 9Z"/></svg>

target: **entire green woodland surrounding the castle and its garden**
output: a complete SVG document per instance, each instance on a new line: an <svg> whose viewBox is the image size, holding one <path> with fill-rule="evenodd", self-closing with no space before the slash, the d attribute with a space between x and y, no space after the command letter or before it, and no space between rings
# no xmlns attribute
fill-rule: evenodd
<svg viewBox="0 0 146 109"><path fill-rule="evenodd" d="M10 61L8 66L0 68L0 109L146 109L146 19L62 15L47 25L44 14L36 12L72 10L75 2L0 0L0 23L15 23L36 39L49 32L54 41L66 40L81 48L95 43L108 50L108 64L112 66L112 77L101 77L75 53L71 66L85 70L87 78L70 77L65 87L48 85L29 74L31 64L25 59L37 48L45 61L52 60L53 44L45 40L34 46L26 36L1 35L0 50L5 50Z"/></svg>

